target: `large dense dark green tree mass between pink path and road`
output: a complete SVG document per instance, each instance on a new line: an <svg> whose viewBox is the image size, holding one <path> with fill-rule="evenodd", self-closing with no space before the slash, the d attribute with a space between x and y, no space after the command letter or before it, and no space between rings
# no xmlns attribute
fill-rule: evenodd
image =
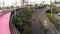
<svg viewBox="0 0 60 34"><path fill-rule="evenodd" d="M20 12L16 13L13 16L13 23L21 34L32 34L31 29L31 15L34 12L34 9L23 9Z"/></svg>

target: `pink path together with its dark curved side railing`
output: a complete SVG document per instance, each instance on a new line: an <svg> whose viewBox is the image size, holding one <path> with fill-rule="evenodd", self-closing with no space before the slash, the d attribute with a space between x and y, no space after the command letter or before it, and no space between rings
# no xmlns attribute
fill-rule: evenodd
<svg viewBox="0 0 60 34"><path fill-rule="evenodd" d="M0 34L20 34L11 22L11 11L0 11Z"/></svg>

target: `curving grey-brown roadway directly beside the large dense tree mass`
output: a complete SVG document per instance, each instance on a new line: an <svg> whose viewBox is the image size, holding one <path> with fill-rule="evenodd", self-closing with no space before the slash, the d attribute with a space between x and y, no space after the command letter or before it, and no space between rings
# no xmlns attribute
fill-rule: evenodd
<svg viewBox="0 0 60 34"><path fill-rule="evenodd" d="M47 9L38 9L34 14L32 15L32 28L34 34L42 34L42 24L40 23L39 15L43 15Z"/></svg>

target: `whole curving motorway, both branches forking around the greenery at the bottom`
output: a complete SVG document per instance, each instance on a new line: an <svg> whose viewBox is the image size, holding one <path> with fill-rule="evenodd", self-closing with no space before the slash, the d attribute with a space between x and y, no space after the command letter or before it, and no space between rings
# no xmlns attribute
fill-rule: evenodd
<svg viewBox="0 0 60 34"><path fill-rule="evenodd" d="M45 12L49 10L47 8L38 9L31 17L31 23L33 27L33 34L42 34L42 25L44 27L49 28L48 34L60 34L56 28L53 26L53 24L49 21L47 16L45 15Z"/></svg>

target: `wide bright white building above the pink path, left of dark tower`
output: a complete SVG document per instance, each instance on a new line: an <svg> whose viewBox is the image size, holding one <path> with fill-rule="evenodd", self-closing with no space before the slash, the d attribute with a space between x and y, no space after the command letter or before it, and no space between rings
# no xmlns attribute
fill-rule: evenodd
<svg viewBox="0 0 60 34"><path fill-rule="evenodd" d="M4 2L4 4L3 4ZM0 7L9 7L9 6L21 6L21 1L20 0L1 0L0 1Z"/></svg>

